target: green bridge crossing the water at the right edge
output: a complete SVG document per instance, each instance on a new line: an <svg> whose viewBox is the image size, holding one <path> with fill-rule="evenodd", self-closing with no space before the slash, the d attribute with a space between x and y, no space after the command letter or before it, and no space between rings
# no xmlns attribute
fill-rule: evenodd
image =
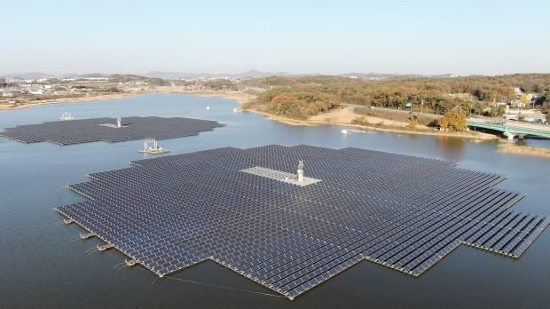
<svg viewBox="0 0 550 309"><path fill-rule="evenodd" d="M547 124L477 118L468 118L466 123L473 128L501 131L508 139L514 139L516 136L523 139L526 135L550 139L550 125Z"/></svg>

